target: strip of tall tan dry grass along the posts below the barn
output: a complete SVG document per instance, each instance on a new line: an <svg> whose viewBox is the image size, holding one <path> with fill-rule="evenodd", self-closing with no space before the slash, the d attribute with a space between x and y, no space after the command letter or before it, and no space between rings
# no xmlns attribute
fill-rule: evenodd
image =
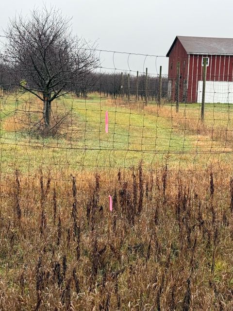
<svg viewBox="0 0 233 311"><path fill-rule="evenodd" d="M225 107L218 111L216 107L205 112L205 121L200 120L200 107L186 104L176 112L175 105L150 104L125 99L106 99L106 103L112 106L125 106L140 113L157 116L159 120L166 122L171 131L184 137L192 137L196 140L197 148L206 147L210 151L232 151L233 148L233 114L231 107ZM216 111L215 111L216 110Z"/></svg>

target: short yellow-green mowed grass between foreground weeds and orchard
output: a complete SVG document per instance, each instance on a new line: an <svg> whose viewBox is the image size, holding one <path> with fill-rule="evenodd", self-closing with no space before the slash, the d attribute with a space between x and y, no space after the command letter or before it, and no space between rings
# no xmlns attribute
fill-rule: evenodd
<svg viewBox="0 0 233 311"><path fill-rule="evenodd" d="M25 102L30 106L33 101L35 99L27 94L17 100L13 95L1 100L1 172L15 168L32 174L38 168L57 171L68 168L70 172L83 168L91 171L128 168L137 166L141 160L144 166L154 168L168 159L173 168L187 168L194 161L195 165L211 161L211 154L199 155L197 152L223 148L222 142L213 143L207 135L195 132L196 125L200 124L200 105L180 105L177 115L169 105L159 108L150 104L143 108L133 101L110 101L96 95L78 99L69 95L52 103L53 110L61 114L70 112L63 135L35 138L16 126L20 122L18 115L24 114ZM15 112L16 108L18 111ZM106 111L108 133L105 133ZM228 106L224 110L222 106L207 105L206 119L212 129L214 126L230 129L232 108ZM188 126L191 120L198 122L194 130ZM224 154L223 159L227 156Z"/></svg>

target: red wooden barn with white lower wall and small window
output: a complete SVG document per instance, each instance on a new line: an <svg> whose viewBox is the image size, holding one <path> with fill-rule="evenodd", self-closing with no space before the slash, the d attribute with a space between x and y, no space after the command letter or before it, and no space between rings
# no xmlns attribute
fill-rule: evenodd
<svg viewBox="0 0 233 311"><path fill-rule="evenodd" d="M168 99L176 99L180 62L179 101L201 102L203 57L207 58L206 103L233 103L233 39L177 36L169 57Z"/></svg>

